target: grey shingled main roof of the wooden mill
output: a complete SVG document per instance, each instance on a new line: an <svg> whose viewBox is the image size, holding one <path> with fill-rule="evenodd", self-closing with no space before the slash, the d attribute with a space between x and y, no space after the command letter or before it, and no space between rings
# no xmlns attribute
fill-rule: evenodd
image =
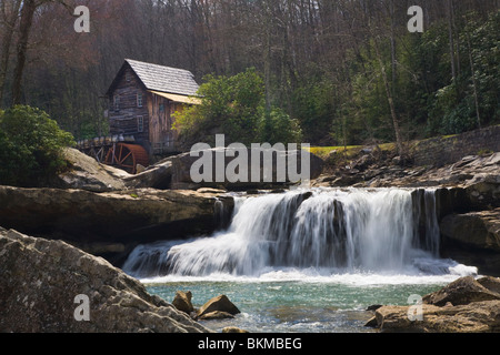
<svg viewBox="0 0 500 355"><path fill-rule="evenodd" d="M191 97L196 95L199 89L193 74L189 70L146 63L131 59L126 59L123 67L126 64L130 65L147 90ZM114 82L111 84L108 93L110 93L113 85Z"/></svg>

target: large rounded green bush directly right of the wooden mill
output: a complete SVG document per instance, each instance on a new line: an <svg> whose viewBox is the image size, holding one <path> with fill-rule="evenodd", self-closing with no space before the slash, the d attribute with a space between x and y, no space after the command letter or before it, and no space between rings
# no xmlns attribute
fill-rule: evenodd
<svg viewBox="0 0 500 355"><path fill-rule="evenodd" d="M208 75L199 91L202 103L176 112L174 128L186 148L196 142L212 143L216 133L226 142L298 142L298 121L278 108L266 112L264 84L254 69L233 77Z"/></svg>

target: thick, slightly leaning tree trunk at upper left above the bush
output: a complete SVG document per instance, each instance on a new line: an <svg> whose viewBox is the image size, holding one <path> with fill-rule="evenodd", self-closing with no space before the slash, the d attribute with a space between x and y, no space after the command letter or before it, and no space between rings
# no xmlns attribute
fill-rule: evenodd
<svg viewBox="0 0 500 355"><path fill-rule="evenodd" d="M33 21L34 10L37 9L36 0L24 0L21 9L21 24L19 28L20 37L18 41L17 63L12 82L12 104L21 103L22 72L26 64L26 52L28 50L28 39L30 36L31 24Z"/></svg>

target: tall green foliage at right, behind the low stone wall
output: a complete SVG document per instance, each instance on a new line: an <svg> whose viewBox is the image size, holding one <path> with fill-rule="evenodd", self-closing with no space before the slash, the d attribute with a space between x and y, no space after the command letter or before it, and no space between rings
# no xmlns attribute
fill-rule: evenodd
<svg viewBox="0 0 500 355"><path fill-rule="evenodd" d="M422 34L400 36L396 44L396 65L391 62L389 37L379 42L404 139L457 134L478 129L480 123L486 126L500 122L500 11L488 19L473 12L461 16L457 19L456 31L454 80L447 21L433 23ZM392 75L393 68L396 75ZM348 144L393 141L373 41L367 41L359 52L350 53L349 69L351 94L337 111L332 130L339 131L336 121L340 122L338 118L343 116Z"/></svg>

